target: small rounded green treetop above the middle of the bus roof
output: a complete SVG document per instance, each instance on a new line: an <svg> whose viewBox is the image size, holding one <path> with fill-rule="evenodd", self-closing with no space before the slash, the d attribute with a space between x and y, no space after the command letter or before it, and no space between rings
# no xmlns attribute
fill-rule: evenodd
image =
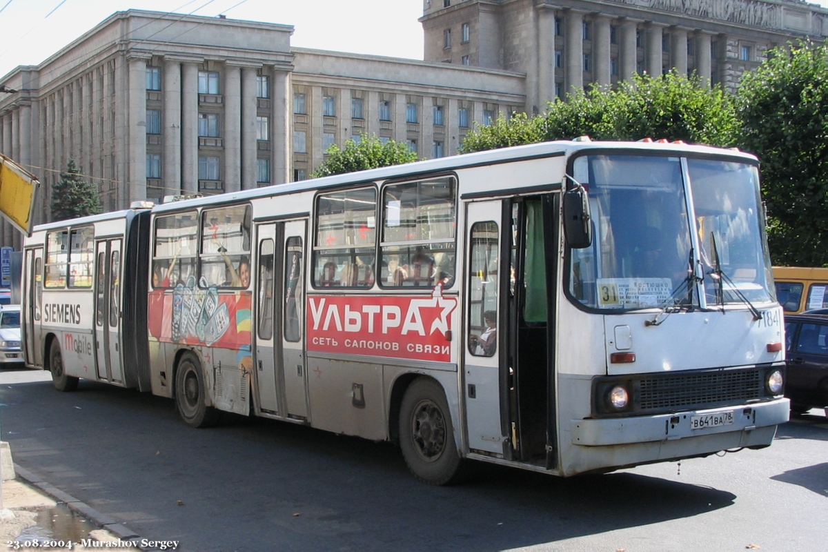
<svg viewBox="0 0 828 552"><path fill-rule="evenodd" d="M416 152L409 150L407 144L393 140L383 144L376 136L363 135L359 142L348 140L344 149L333 145L325 153L328 158L314 169L312 178L417 161Z"/></svg>

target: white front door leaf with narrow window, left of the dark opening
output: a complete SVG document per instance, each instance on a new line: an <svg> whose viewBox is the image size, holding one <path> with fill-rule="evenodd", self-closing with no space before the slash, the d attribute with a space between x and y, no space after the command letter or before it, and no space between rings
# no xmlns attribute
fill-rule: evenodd
<svg viewBox="0 0 828 552"><path fill-rule="evenodd" d="M511 458L510 420L505 404L509 355L501 331L507 327L500 270L503 218L502 201L470 203L466 207L469 246L465 262L464 391L469 449Z"/></svg>

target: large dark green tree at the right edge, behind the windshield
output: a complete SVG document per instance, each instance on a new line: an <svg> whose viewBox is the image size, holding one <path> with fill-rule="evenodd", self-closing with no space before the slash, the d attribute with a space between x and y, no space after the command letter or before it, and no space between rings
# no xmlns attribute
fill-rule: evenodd
<svg viewBox="0 0 828 552"><path fill-rule="evenodd" d="M739 147L762 162L775 264L828 266L826 75L828 46L800 43L772 50L739 86Z"/></svg>

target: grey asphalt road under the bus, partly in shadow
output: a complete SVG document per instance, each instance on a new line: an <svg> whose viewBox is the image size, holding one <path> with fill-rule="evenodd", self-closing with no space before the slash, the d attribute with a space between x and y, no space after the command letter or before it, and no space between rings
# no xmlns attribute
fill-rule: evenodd
<svg viewBox="0 0 828 552"><path fill-rule="evenodd" d="M828 419L769 449L561 479L479 465L456 487L396 447L225 416L193 430L171 400L46 372L0 372L14 461L179 550L828 550Z"/></svg>

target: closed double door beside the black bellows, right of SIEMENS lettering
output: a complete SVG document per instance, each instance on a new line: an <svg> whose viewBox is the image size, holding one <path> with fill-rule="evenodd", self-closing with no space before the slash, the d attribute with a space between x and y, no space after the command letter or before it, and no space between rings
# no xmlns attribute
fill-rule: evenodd
<svg viewBox="0 0 828 552"><path fill-rule="evenodd" d="M121 360L121 240L95 244L95 364L98 377L123 382Z"/></svg>

